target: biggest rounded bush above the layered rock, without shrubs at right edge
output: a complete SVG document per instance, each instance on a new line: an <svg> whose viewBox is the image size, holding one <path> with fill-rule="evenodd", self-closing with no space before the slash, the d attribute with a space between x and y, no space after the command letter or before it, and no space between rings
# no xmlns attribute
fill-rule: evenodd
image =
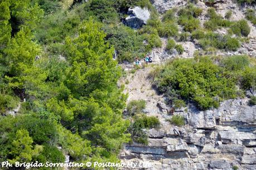
<svg viewBox="0 0 256 170"><path fill-rule="evenodd" d="M194 101L205 110L218 107L221 99L236 97L235 77L223 74L222 67L208 57L176 59L163 67L154 85L167 98Z"/></svg>

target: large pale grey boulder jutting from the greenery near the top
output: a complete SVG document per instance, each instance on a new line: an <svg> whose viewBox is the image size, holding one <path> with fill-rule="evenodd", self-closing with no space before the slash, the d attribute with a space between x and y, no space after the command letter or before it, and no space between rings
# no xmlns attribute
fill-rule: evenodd
<svg viewBox="0 0 256 170"><path fill-rule="evenodd" d="M132 28L141 28L146 25L150 17L148 9L141 7L129 8L128 14L129 16L125 18L125 25Z"/></svg>

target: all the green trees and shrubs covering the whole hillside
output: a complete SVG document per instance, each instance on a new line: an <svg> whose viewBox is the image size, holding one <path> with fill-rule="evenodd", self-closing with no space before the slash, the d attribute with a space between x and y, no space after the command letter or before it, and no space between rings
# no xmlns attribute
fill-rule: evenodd
<svg viewBox="0 0 256 170"><path fill-rule="evenodd" d="M121 22L133 6L151 12L139 30ZM235 51L240 42L233 34L250 32L245 20L229 22L213 9L204 30L202 9L190 3L170 9L162 20L149 0L6 0L0 9L0 161L11 163L63 162L65 154L74 162L117 162L124 142L147 144L145 130L160 126L158 118L142 114L144 100L127 105L131 123L122 118L127 95L117 85L118 62L142 59L161 47L160 37L180 55L184 48L176 41ZM254 23L255 14L247 11L247 19ZM230 35L212 32L220 27L229 27ZM236 85L256 88L256 69L246 56L173 60L152 77L175 109L187 100L200 109L217 107L243 94ZM173 116L171 122L183 125L183 119Z"/></svg>

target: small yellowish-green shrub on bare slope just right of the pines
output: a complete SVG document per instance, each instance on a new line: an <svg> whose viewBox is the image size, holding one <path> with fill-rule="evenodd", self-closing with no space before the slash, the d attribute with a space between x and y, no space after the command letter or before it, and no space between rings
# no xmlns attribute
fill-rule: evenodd
<svg viewBox="0 0 256 170"><path fill-rule="evenodd" d="M141 111L146 107L145 100L132 100L127 105L127 111L130 115L135 115L141 113Z"/></svg>

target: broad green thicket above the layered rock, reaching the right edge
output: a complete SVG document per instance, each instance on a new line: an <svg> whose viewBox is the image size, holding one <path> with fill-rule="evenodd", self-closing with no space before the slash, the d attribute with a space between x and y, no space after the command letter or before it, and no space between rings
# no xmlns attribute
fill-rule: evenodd
<svg viewBox="0 0 256 170"><path fill-rule="evenodd" d="M177 99L194 101L205 110L217 108L223 99L241 95L236 85L244 90L255 88L255 70L247 56L226 57L219 64L209 57L176 59L159 71L154 85L173 104Z"/></svg>

